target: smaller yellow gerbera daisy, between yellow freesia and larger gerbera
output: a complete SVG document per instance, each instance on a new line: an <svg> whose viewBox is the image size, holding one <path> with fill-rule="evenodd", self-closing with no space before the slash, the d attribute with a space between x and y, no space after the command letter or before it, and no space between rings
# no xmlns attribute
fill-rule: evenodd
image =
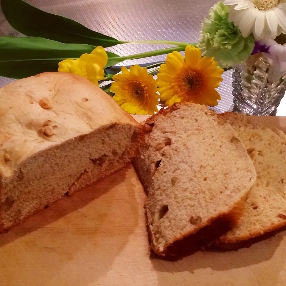
<svg viewBox="0 0 286 286"><path fill-rule="evenodd" d="M158 112L158 94L156 80L148 74L146 68L135 65L130 71L125 66L122 74L116 74L110 91L113 99L130 114L154 114Z"/></svg>

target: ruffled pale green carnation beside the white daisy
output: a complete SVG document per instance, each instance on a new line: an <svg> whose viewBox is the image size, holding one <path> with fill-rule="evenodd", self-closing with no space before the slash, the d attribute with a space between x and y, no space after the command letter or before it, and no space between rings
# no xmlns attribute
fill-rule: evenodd
<svg viewBox="0 0 286 286"><path fill-rule="evenodd" d="M222 68L240 64L254 49L254 37L243 38L228 16L229 6L223 5L223 1L215 4L209 10L209 18L203 21L199 42L202 55L213 57Z"/></svg>

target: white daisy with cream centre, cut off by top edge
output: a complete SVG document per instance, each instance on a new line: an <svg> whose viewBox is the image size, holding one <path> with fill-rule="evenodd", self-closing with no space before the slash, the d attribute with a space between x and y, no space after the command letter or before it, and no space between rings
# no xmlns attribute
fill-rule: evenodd
<svg viewBox="0 0 286 286"><path fill-rule="evenodd" d="M229 21L238 26L243 37L275 39L286 34L286 0L225 0L230 5Z"/></svg>

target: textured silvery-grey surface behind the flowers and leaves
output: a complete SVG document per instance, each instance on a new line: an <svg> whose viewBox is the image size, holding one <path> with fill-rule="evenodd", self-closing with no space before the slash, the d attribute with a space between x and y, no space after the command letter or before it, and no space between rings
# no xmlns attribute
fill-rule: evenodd
<svg viewBox="0 0 286 286"><path fill-rule="evenodd" d="M26 0L48 12L60 14L97 32L122 41L169 40L198 42L203 18L216 0ZM0 11L0 36L18 35L5 21ZM124 44L108 48L119 55L131 55L168 46ZM130 60L120 65L164 60L166 56ZM11 79L0 77L0 86ZM218 91L222 99L217 112L232 108L231 71L223 74ZM286 97L281 101L277 115L286 115Z"/></svg>

